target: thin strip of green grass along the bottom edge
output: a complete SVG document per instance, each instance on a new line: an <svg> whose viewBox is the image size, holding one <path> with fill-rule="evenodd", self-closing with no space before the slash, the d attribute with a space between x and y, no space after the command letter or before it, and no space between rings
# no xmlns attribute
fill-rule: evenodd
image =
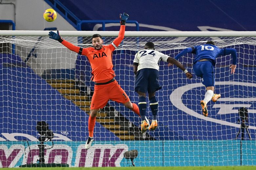
<svg viewBox="0 0 256 170"><path fill-rule="evenodd" d="M31 170L32 168L21 168L22 170ZM181 167L54 167L54 168L33 168L33 170L255 170L256 166L181 166ZM8 170L17 170L17 168L8 168Z"/></svg>

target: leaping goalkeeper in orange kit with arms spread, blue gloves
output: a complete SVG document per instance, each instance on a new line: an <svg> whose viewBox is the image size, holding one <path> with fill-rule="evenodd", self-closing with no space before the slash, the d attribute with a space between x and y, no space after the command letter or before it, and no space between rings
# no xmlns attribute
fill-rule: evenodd
<svg viewBox="0 0 256 170"><path fill-rule="evenodd" d="M127 94L115 80L114 77L116 75L113 70L112 63L113 51L118 47L124 38L125 23L128 18L128 14L120 14L121 26L118 37L109 45L103 45L102 37L99 34L94 34L92 36L93 47L82 48L63 40L58 31L57 34L53 31L49 32L50 38L59 41L68 49L75 51L80 55L87 56L92 67L93 76L91 80L95 82L95 88L88 122L89 137L85 145L86 149L89 149L94 141L93 131L97 113L99 109L103 108L109 100L124 104L125 107L133 110L140 116L138 106L135 103L131 103Z"/></svg>

